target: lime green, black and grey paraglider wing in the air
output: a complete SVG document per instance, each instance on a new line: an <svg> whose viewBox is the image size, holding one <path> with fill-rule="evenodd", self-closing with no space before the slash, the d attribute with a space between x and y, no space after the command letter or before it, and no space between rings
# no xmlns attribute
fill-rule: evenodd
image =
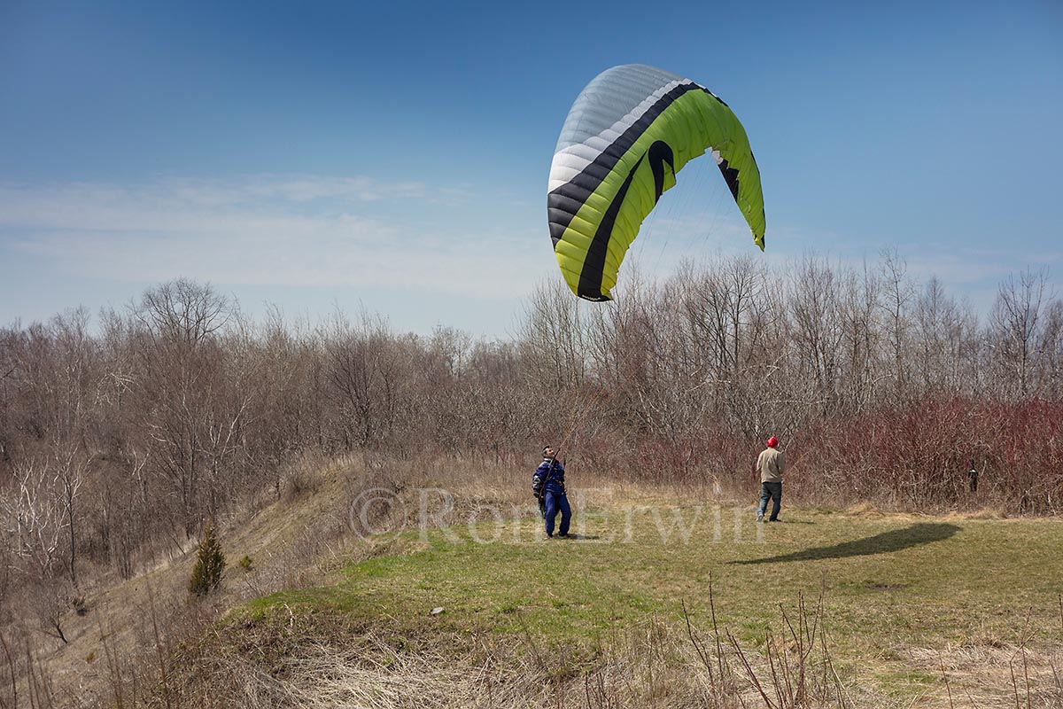
<svg viewBox="0 0 1063 709"><path fill-rule="evenodd" d="M642 220L705 152L763 249L760 171L726 103L689 79L638 64L607 69L587 85L561 129L546 198L554 254L572 292L610 300Z"/></svg>

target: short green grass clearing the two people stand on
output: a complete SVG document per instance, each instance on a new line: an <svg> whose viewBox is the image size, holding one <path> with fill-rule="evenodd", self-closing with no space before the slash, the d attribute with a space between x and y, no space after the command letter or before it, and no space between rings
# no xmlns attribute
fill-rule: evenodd
<svg viewBox="0 0 1063 709"><path fill-rule="evenodd" d="M1058 520L793 508L782 517L758 525L746 507L611 505L577 516L577 539L546 540L538 519L480 514L381 535L373 558L249 610L332 610L404 636L486 632L576 666L619 629L684 626L684 606L695 628L711 630L710 586L719 626L754 652L779 627L780 607L794 618L802 597L814 606L822 593L845 676L913 698L941 689L942 665L967 696L1002 696L1019 645L1045 657L1063 646ZM963 653L980 659L955 659Z"/></svg>

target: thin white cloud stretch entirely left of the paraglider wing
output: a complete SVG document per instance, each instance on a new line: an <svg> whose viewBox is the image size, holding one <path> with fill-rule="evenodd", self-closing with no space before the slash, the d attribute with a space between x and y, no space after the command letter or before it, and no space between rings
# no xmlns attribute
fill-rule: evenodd
<svg viewBox="0 0 1063 709"><path fill-rule="evenodd" d="M462 199L417 183L313 175L5 185L0 246L9 257L115 281L184 275L470 297L533 288L540 272L522 263L528 244L497 233L455 238L441 196Z"/></svg>

